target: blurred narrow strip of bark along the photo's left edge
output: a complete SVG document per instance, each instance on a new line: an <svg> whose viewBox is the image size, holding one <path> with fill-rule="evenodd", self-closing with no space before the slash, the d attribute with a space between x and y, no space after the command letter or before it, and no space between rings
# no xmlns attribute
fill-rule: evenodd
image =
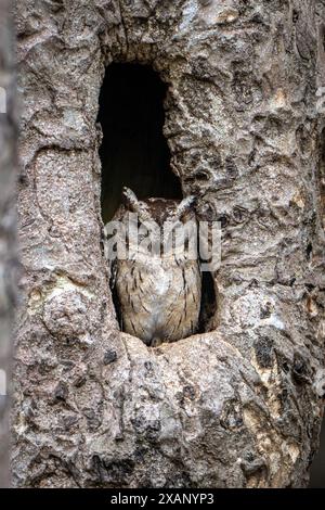
<svg viewBox="0 0 325 510"><path fill-rule="evenodd" d="M16 268L16 112L11 2L0 0L0 487L9 485L9 374Z"/></svg>

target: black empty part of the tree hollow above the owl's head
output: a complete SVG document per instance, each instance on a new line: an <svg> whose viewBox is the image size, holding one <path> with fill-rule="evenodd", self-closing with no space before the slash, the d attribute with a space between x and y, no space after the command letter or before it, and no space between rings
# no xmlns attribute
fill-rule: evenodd
<svg viewBox="0 0 325 510"><path fill-rule="evenodd" d="M138 197L182 199L162 133L167 86L151 67L112 64L100 97L102 217L112 219L123 186Z"/></svg>

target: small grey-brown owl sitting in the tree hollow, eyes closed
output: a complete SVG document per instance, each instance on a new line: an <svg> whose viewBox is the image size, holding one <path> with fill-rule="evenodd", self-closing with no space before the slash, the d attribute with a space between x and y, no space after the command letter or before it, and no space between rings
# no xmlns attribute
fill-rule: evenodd
<svg viewBox="0 0 325 510"><path fill-rule="evenodd" d="M129 227L125 237L128 256L110 263L110 283L121 330L152 347L194 334L202 299L199 259L193 253L197 251L196 243L192 243L196 235L194 196L181 202L139 201L125 188L123 201L114 220L126 230ZM177 239L177 229L171 227L188 225L193 230ZM138 237L130 235L131 228Z"/></svg>

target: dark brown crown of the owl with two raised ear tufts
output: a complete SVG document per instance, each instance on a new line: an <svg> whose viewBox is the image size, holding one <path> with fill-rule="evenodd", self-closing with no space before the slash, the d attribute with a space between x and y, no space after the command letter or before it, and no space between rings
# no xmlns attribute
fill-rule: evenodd
<svg viewBox="0 0 325 510"><path fill-rule="evenodd" d="M193 195L186 196L180 202L167 199L140 201L129 188L123 188L122 194L127 209L136 213L142 222L155 221L161 227L165 221L186 222L195 218L195 196Z"/></svg>

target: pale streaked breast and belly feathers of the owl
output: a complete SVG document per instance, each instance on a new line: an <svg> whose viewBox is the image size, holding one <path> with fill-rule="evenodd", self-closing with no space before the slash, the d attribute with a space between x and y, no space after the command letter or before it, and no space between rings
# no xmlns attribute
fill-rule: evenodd
<svg viewBox="0 0 325 510"><path fill-rule="evenodd" d="M123 330L147 345L194 334L200 310L197 262L118 262L116 286Z"/></svg>

